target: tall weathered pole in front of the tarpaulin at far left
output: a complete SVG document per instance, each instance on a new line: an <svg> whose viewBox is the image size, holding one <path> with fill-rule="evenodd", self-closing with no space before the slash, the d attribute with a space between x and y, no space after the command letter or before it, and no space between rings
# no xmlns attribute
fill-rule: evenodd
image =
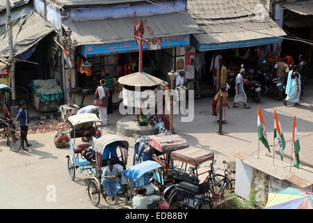
<svg viewBox="0 0 313 223"><path fill-rule="evenodd" d="M11 21L11 10L10 1L6 0L6 23L8 24L8 44L10 53L10 85L12 89L12 105L15 105L15 62L13 61L13 34L12 34L12 21Z"/></svg>

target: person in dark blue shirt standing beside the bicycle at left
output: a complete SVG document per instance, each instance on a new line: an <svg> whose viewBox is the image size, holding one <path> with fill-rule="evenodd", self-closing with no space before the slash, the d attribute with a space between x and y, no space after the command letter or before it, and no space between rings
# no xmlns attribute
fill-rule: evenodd
<svg viewBox="0 0 313 223"><path fill-rule="evenodd" d="M24 100L19 102L19 105L21 105L21 108L16 116L16 120L19 121L19 126L21 128L22 150L29 151L29 148L24 147L24 141L26 142L26 147L31 146L31 144L27 141L27 132L29 130L29 127L27 126L29 123L29 112L27 112L26 102Z"/></svg>

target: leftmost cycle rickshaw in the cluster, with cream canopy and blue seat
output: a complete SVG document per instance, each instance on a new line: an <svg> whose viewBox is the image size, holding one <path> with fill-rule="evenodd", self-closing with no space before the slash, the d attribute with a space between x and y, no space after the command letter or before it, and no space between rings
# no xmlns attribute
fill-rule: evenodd
<svg viewBox="0 0 313 223"><path fill-rule="evenodd" d="M68 117L67 122L70 136L70 150L72 151L72 155L66 156L67 169L70 178L74 180L76 169L79 169L79 174L84 170L87 170L88 174L92 174L91 169L93 168L92 162L81 155L81 151L85 150L90 145L88 143L75 145L75 139L83 137L83 134L87 131L90 132L92 136L99 137L102 134L102 128L99 130L97 123L101 124L102 121L97 118L95 114L76 114Z"/></svg>

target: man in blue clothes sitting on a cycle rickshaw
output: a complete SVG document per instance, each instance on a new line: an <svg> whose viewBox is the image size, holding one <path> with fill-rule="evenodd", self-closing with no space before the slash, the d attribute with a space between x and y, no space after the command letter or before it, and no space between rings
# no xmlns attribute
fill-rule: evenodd
<svg viewBox="0 0 313 223"><path fill-rule="evenodd" d="M118 195L118 192L122 189L120 183L118 183L118 176L122 174L122 169L113 165L112 160L107 162L108 166L104 168L103 174L101 176L101 184L104 186L106 195L114 197Z"/></svg>

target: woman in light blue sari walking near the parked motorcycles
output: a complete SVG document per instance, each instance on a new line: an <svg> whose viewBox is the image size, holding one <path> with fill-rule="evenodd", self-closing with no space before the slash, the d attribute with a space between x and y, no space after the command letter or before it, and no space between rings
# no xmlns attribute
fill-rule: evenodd
<svg viewBox="0 0 313 223"><path fill-rule="evenodd" d="M284 105L287 106L287 102L294 102L295 106L300 105L301 82L298 66L296 65L293 70L289 71L285 93L287 97L284 100Z"/></svg>

